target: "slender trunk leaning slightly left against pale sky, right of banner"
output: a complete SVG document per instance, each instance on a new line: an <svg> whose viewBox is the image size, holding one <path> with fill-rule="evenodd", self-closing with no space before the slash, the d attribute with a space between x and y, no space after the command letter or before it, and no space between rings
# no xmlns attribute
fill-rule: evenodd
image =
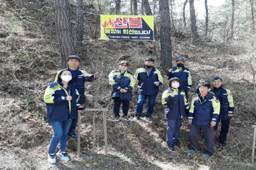
<svg viewBox="0 0 256 170"><path fill-rule="evenodd" d="M198 41L198 32L196 26L196 18L195 18L195 6L194 0L189 0L189 7L190 7L190 20L191 20L191 32L192 32L192 41L196 43Z"/></svg>

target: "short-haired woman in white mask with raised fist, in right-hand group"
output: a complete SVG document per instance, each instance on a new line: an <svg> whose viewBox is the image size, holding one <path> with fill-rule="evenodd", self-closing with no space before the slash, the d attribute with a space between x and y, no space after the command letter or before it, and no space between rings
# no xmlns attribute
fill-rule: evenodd
<svg viewBox="0 0 256 170"><path fill-rule="evenodd" d="M181 81L173 77L168 81L169 88L163 92L162 104L164 105L164 115L167 121L166 140L170 150L175 150L177 144L182 118L185 118L185 108L189 108L185 92L180 89Z"/></svg>

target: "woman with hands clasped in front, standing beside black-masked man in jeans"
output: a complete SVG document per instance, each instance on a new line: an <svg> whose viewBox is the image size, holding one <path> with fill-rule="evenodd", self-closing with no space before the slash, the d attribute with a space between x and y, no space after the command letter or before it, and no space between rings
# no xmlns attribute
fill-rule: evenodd
<svg viewBox="0 0 256 170"><path fill-rule="evenodd" d="M109 84L112 86L111 97L114 100L113 111L115 114L115 121L120 122L120 106L122 103L122 110L124 119L130 122L128 119L129 104L132 97L132 88L134 87L135 80L133 74L127 70L129 63L122 61L118 63L119 69L112 70L108 75Z"/></svg>

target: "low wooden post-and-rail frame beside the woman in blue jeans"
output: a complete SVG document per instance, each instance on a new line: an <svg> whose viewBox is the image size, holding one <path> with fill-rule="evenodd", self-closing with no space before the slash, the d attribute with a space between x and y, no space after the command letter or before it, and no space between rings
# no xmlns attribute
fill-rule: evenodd
<svg viewBox="0 0 256 170"><path fill-rule="evenodd" d="M104 141L105 141L105 155L108 154L108 139L107 139L107 122L106 122L106 111L108 111L107 108L85 108L84 111L94 111L93 114L93 154L95 153L95 115L97 111L102 112L103 116L103 127L104 127ZM77 156L80 155L80 127L81 127L81 114L78 112L78 120L77 120Z"/></svg>

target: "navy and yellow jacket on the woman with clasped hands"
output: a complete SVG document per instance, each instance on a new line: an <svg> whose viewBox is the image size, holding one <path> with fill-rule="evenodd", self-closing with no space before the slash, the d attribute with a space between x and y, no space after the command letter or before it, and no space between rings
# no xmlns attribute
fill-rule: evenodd
<svg viewBox="0 0 256 170"><path fill-rule="evenodd" d="M129 71L121 72L120 69L112 70L108 75L109 84L112 86L111 97L120 97L121 100L131 100L132 88L135 80ZM126 89L126 93L120 93L120 89Z"/></svg>

